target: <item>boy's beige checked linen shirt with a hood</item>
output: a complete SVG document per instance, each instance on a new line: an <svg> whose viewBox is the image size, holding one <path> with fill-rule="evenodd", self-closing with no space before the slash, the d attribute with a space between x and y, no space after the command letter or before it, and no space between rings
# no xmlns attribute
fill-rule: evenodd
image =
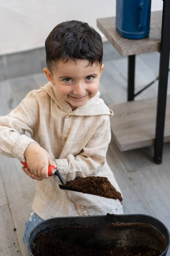
<svg viewBox="0 0 170 256"><path fill-rule="evenodd" d="M64 180L90 175L108 177L120 191L106 162L111 140L113 111L99 99L99 92L72 111L58 98L49 82L33 90L7 116L0 117L0 153L25 161L24 151L37 143L55 160ZM25 135L31 134L31 138ZM42 219L77 215L122 214L118 200L59 189L53 177L36 181L32 208Z"/></svg>

